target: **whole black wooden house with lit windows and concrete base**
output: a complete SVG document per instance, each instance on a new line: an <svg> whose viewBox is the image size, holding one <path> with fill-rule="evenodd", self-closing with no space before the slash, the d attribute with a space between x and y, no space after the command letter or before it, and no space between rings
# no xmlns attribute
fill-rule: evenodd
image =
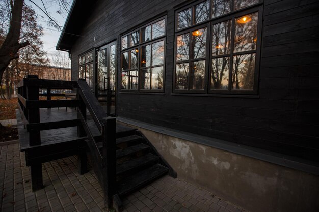
<svg viewBox="0 0 319 212"><path fill-rule="evenodd" d="M177 177L250 211L317 211L318 11L317 0L74 0L57 49Z"/></svg>

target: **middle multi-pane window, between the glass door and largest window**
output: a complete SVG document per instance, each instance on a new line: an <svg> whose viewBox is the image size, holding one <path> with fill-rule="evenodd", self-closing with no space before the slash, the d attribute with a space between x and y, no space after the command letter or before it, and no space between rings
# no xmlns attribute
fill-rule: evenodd
<svg viewBox="0 0 319 212"><path fill-rule="evenodd" d="M166 18L121 38L121 91L163 92Z"/></svg>

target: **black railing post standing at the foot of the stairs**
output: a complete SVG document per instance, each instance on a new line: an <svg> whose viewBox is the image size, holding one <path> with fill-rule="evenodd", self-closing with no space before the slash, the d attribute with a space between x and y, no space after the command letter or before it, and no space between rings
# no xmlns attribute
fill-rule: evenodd
<svg viewBox="0 0 319 212"><path fill-rule="evenodd" d="M103 118L103 192L105 207L112 207L116 189L116 123L115 118Z"/></svg>

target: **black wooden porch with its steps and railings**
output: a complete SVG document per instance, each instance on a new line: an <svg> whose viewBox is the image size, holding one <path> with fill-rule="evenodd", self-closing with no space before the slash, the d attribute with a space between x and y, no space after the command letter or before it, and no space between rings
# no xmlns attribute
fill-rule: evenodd
<svg viewBox="0 0 319 212"><path fill-rule="evenodd" d="M76 99L60 101L50 100L48 97L47 100L40 101L39 88L47 89L48 94L50 89L76 88ZM86 171L85 149L90 152L107 209L114 208L120 211L120 199L123 196L165 174L176 176L176 172L140 131L116 123L114 117L107 116L84 80L67 82L40 80L37 76L29 76L18 84L18 99L23 120L18 128L20 148L25 151L26 164L31 167L33 191L43 187L43 162L77 154L79 173L83 174ZM65 112L61 108L53 110L70 106L76 107L76 111ZM65 112L67 115L61 116L71 118L60 120L52 117L54 114L57 116L59 112ZM40 113L41 116L46 114L48 117L40 118ZM62 128L73 129L72 127L77 127L77 133L74 130L56 130L54 132L57 135L50 137L54 133L43 132Z"/></svg>

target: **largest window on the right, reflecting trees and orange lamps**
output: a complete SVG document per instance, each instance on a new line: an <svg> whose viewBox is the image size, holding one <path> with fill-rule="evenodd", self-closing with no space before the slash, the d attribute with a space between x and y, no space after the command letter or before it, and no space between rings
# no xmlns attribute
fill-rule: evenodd
<svg viewBox="0 0 319 212"><path fill-rule="evenodd" d="M176 11L174 92L256 92L258 3L207 0Z"/></svg>

